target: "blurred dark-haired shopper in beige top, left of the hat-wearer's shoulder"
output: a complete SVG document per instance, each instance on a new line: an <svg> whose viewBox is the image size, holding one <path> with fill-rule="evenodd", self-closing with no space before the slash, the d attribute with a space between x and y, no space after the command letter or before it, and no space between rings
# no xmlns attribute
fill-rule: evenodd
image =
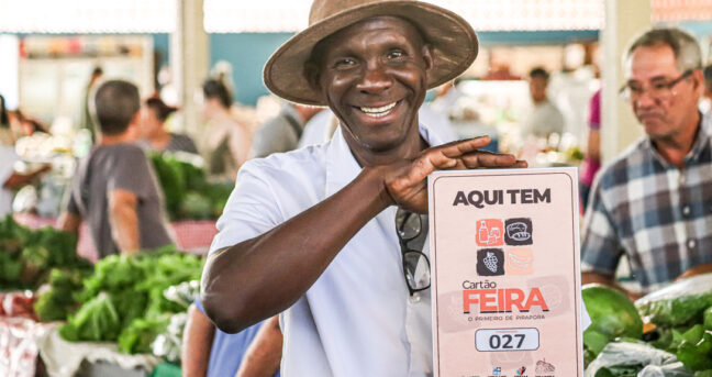
<svg viewBox="0 0 712 377"><path fill-rule="evenodd" d="M234 179L237 169L247 160L252 135L235 120L232 102L222 81L208 79L203 82L203 114L209 121L204 151L208 173Z"/></svg>

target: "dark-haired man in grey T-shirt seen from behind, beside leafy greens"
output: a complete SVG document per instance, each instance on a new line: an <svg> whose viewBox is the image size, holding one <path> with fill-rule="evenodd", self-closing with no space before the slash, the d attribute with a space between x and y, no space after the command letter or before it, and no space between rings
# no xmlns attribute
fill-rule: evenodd
<svg viewBox="0 0 712 377"><path fill-rule="evenodd" d="M79 164L59 219L60 228L74 233L88 221L99 257L171 243L156 176L134 144L140 107L131 82L112 80L97 89L98 143Z"/></svg>

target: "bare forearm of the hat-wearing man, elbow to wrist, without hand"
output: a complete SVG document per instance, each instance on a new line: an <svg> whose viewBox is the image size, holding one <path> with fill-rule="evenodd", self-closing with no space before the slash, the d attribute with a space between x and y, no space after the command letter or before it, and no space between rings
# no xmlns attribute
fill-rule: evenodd
<svg viewBox="0 0 712 377"><path fill-rule="evenodd" d="M390 204L381 180L367 171L271 231L209 257L203 307L221 330L234 333L289 308L348 240Z"/></svg>

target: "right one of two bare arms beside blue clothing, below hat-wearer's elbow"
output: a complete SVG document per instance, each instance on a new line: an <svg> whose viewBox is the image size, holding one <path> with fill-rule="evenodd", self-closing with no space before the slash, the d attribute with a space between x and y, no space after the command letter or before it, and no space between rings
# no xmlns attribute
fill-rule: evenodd
<svg viewBox="0 0 712 377"><path fill-rule="evenodd" d="M235 377L271 377L281 362L282 333L279 315L265 321L247 348Z"/></svg>

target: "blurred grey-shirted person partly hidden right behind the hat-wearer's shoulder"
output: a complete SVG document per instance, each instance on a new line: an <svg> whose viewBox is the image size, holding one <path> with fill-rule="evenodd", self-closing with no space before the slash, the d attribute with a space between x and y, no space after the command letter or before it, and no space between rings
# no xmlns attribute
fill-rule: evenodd
<svg viewBox="0 0 712 377"><path fill-rule="evenodd" d="M272 153L296 149L304 125L323 108L285 103L277 117L260 125L253 136L249 157L267 157Z"/></svg>

